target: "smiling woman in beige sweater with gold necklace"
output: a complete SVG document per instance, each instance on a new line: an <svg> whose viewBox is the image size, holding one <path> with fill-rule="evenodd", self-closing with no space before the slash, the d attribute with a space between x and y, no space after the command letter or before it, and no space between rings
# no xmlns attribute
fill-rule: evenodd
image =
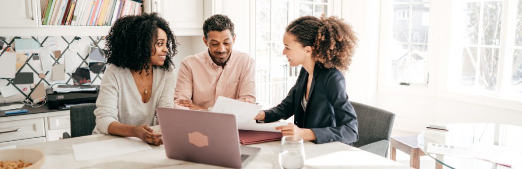
<svg viewBox="0 0 522 169"><path fill-rule="evenodd" d="M162 144L153 125L156 107L173 107L176 38L157 14L116 20L106 37L108 66L96 101L96 127L104 133Z"/></svg>

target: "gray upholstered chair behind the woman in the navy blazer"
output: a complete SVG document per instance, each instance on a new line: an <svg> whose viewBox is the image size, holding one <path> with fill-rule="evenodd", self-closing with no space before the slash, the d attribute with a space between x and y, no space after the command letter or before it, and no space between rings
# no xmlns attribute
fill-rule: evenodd
<svg viewBox="0 0 522 169"><path fill-rule="evenodd" d="M387 157L395 114L357 102L350 103L359 123L359 140L353 146Z"/></svg>

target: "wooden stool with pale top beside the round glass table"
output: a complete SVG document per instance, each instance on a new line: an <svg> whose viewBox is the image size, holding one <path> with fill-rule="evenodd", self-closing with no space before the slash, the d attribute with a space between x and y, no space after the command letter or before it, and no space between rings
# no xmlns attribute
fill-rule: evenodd
<svg viewBox="0 0 522 169"><path fill-rule="evenodd" d="M420 156L426 155L417 144L417 136L392 137L390 141L390 156L395 161L396 149L410 155L410 167L419 168ZM435 160L435 168L441 169L442 164Z"/></svg>

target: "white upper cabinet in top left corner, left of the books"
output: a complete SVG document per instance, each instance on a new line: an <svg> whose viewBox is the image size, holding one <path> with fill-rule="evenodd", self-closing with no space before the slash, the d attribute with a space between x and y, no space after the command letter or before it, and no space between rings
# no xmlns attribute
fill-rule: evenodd
<svg viewBox="0 0 522 169"><path fill-rule="evenodd" d="M37 28L36 0L0 1L0 28Z"/></svg>

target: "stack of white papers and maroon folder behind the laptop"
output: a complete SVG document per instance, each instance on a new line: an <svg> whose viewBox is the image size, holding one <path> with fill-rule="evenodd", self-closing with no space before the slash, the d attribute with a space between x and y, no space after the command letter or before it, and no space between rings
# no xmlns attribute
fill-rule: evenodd
<svg viewBox="0 0 522 169"><path fill-rule="evenodd" d="M276 130L276 127L287 124L285 122L256 123L253 119L261 108L261 105L219 96L211 112L235 116L240 130L239 139L243 145L280 140L282 135L280 131Z"/></svg>

